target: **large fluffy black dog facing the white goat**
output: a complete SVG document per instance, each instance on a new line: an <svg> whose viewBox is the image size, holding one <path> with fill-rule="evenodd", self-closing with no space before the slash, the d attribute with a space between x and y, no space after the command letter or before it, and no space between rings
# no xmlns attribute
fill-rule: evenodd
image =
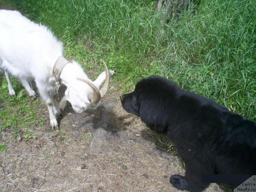
<svg viewBox="0 0 256 192"><path fill-rule="evenodd" d="M255 122L159 76L143 78L120 99L128 113L174 142L186 169L185 177L170 177L176 188L200 192L214 176L234 178L229 182L237 187L256 175Z"/></svg>

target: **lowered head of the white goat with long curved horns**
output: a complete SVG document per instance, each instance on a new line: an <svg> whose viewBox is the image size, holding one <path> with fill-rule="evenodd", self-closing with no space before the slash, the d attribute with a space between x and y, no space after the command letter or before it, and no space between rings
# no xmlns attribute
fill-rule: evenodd
<svg viewBox="0 0 256 192"><path fill-rule="evenodd" d="M73 86L67 86L65 96L60 101L60 108L63 109L65 107L66 101L71 103L72 108L77 113L81 113L86 109L95 109L98 107L100 99L108 90L109 76L114 74L113 71L108 71L108 67L104 61L103 63L106 73L102 72L96 81L92 82L90 79L77 78L75 85L76 88ZM104 78L104 86L99 90Z"/></svg>

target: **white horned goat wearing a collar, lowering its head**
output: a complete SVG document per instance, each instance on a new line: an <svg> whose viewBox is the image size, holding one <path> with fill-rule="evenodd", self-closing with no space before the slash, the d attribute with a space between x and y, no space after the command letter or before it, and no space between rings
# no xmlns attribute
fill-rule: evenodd
<svg viewBox="0 0 256 192"><path fill-rule="evenodd" d="M64 107L68 100L79 113L98 106L98 102L106 94L109 77L114 74L114 71L108 71L104 63L105 72L92 81L78 63L68 62L62 55L62 42L46 26L28 20L17 11L0 10L0 68L5 72L9 93L15 96L8 73L19 78L33 97L36 94L30 87L28 78L34 78L38 92L47 104L52 129L58 128L56 116L61 114L54 92L56 79L53 68L57 60L64 66L59 69L60 83L67 86L60 105ZM99 90L104 80L105 84Z"/></svg>

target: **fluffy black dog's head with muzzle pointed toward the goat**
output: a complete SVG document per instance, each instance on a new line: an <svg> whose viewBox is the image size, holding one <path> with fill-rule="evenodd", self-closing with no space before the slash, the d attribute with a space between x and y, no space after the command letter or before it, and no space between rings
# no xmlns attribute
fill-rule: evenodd
<svg viewBox="0 0 256 192"><path fill-rule="evenodd" d="M143 78L133 92L120 96L122 107L139 116L148 127L162 132L170 123L170 103L175 87L176 84L159 76Z"/></svg>

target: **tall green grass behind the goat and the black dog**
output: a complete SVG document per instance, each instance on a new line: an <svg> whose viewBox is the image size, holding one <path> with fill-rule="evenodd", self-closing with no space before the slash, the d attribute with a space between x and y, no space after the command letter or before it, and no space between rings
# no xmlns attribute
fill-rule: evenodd
<svg viewBox="0 0 256 192"><path fill-rule="evenodd" d="M255 0L201 1L168 25L152 0L9 1L84 68L104 58L124 91L158 74L256 120Z"/></svg>

